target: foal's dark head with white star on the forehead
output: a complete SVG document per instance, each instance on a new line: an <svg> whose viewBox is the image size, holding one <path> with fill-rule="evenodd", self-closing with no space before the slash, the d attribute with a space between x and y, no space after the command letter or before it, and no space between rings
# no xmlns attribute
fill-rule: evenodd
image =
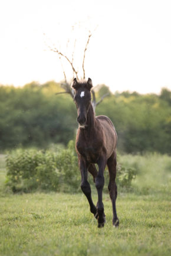
<svg viewBox="0 0 171 256"><path fill-rule="evenodd" d="M77 107L77 121L80 127L84 127L87 121L87 113L91 104L92 81L88 78L87 82L78 82L74 78L71 88L75 90L74 102Z"/></svg>

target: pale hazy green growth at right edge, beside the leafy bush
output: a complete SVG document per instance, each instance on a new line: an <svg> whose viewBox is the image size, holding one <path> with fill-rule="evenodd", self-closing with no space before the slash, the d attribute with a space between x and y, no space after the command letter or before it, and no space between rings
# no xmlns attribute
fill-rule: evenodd
<svg viewBox="0 0 171 256"><path fill-rule="evenodd" d="M119 162L122 166L135 168L136 180L133 183L134 192L140 195L162 193L164 189L170 191L170 155L146 153L144 155L122 155Z"/></svg>

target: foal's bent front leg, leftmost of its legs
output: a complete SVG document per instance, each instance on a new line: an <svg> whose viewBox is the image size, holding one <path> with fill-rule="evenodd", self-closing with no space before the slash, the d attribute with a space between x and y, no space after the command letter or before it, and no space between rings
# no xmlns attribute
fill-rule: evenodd
<svg viewBox="0 0 171 256"><path fill-rule="evenodd" d="M78 163L81 171L81 190L83 191L84 195L87 197L88 203L90 205L90 212L93 213L94 216L96 216L97 208L93 203L93 200L91 197L90 183L88 183L88 180L87 180L87 169L89 164L87 163L87 161L84 160L84 158L80 158Z"/></svg>

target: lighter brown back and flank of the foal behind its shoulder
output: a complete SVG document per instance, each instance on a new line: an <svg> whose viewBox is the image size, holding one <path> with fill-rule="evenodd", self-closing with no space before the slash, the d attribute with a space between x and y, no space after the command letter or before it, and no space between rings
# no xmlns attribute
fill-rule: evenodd
<svg viewBox="0 0 171 256"><path fill-rule="evenodd" d="M117 144L116 129L114 128L113 122L111 122L111 120L107 116L99 115L96 116L96 119L98 119L100 125L104 129L104 135L106 138L106 148L108 152L108 157L110 157L110 155L115 150Z"/></svg>

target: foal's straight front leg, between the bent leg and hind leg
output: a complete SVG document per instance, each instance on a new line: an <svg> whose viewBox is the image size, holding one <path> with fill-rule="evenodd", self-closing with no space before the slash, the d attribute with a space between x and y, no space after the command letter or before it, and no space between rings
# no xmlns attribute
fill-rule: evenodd
<svg viewBox="0 0 171 256"><path fill-rule="evenodd" d="M104 168L106 166L107 159L105 156L101 156L98 160L98 174L95 179L96 189L98 193L97 202L97 214L98 214L98 228L102 228L106 222L104 215L104 206L102 200L103 187L104 187Z"/></svg>

